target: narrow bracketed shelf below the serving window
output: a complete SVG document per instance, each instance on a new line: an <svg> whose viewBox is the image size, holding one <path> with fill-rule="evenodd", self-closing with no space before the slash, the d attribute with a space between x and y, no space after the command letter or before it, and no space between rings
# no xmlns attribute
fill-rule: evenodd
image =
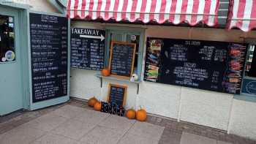
<svg viewBox="0 0 256 144"><path fill-rule="evenodd" d="M96 76L96 77L99 77L99 79L100 79L100 88L102 88L102 80L103 80L103 79L107 79L107 80L118 80L118 81L123 81L123 82L128 82L128 83L135 83L135 84L137 84L137 94L139 94L141 80L138 80L138 81L131 81L131 80L128 80L128 79L123 79L123 78L113 77L113 76L104 77L104 76L102 76L102 75L100 75L100 74L96 74L95 76Z"/></svg>

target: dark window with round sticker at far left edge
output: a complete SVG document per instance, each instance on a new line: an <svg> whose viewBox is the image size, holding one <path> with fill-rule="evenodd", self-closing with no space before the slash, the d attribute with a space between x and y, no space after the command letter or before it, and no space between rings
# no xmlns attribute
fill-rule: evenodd
<svg viewBox="0 0 256 144"><path fill-rule="evenodd" d="M0 15L0 63L15 61L13 17Z"/></svg>

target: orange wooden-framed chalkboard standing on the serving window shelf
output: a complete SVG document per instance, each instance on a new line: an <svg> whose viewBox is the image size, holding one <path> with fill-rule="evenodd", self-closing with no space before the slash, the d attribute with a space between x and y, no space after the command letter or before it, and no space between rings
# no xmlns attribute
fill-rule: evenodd
<svg viewBox="0 0 256 144"><path fill-rule="evenodd" d="M135 43L111 42L108 67L110 74L123 78L131 77L135 61L135 50Z"/></svg>

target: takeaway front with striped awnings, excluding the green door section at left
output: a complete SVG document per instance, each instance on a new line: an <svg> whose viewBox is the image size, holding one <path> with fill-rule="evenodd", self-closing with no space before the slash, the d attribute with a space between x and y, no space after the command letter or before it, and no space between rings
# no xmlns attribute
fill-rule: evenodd
<svg viewBox="0 0 256 144"><path fill-rule="evenodd" d="M244 1L69 0L70 96L108 101L110 84L127 86L127 108L255 139L253 7ZM93 30L105 31L105 38L88 34ZM118 42L136 44L135 58L120 52ZM103 67L110 76L101 75Z"/></svg>

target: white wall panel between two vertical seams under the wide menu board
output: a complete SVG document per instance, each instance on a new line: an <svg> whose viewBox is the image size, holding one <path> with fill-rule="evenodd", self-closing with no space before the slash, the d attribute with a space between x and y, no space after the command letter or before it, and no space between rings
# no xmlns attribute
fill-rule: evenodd
<svg viewBox="0 0 256 144"><path fill-rule="evenodd" d="M181 88L181 120L227 130L233 95Z"/></svg>

